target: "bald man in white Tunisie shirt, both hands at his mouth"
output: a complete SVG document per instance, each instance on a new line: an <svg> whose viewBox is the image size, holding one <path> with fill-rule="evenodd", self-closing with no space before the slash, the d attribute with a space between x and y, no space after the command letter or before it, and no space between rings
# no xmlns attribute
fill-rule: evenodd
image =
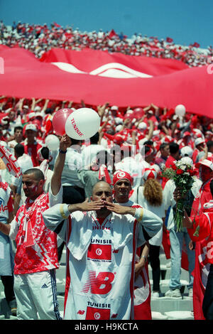
<svg viewBox="0 0 213 334"><path fill-rule="evenodd" d="M136 247L160 230L159 218L112 203L111 186L100 181L90 202L55 205L43 220L67 246L64 319L133 319Z"/></svg>

